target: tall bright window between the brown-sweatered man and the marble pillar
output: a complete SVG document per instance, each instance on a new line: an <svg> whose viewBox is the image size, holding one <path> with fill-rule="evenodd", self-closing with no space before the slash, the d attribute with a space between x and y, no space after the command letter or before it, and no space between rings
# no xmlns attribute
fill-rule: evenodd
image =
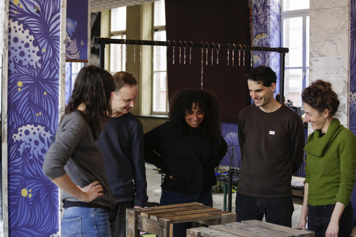
<svg viewBox="0 0 356 237"><path fill-rule="evenodd" d="M282 47L285 57L285 99L302 106L302 91L309 78L309 0L282 1Z"/></svg>

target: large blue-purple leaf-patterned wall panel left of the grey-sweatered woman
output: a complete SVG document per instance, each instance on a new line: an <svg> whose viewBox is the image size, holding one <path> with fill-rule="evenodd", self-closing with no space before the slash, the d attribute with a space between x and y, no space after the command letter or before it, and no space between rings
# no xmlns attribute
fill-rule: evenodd
<svg viewBox="0 0 356 237"><path fill-rule="evenodd" d="M10 236L59 235L58 189L42 164L58 122L60 7L60 0L9 4Z"/></svg>

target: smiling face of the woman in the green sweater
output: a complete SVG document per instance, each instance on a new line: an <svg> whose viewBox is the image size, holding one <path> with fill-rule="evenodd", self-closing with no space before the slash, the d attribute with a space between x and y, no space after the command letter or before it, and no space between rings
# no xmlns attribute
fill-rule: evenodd
<svg viewBox="0 0 356 237"><path fill-rule="evenodd" d="M329 110L324 110L320 113L305 102L303 103L303 109L305 113L304 122L309 122L314 130L321 130L323 133L328 131L329 123L327 118L329 117Z"/></svg>

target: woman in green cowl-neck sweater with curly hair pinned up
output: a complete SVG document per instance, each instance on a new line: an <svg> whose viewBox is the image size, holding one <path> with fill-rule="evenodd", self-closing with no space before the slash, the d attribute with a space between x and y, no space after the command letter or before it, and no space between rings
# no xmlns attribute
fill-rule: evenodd
<svg viewBox="0 0 356 237"><path fill-rule="evenodd" d="M314 132L307 154L304 201L298 228L315 236L349 236L352 229L350 196L355 183L356 138L335 115L340 101L329 82L317 80L302 93L305 122Z"/></svg>

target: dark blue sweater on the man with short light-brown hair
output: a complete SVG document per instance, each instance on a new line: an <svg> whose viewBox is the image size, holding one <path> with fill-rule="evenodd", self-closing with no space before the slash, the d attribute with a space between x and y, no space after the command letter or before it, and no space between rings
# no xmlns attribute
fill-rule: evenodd
<svg viewBox="0 0 356 237"><path fill-rule="evenodd" d="M143 207L148 197L143 129L139 119L131 113L110 118L97 144L103 154L107 181L116 201L135 200L135 206Z"/></svg>

